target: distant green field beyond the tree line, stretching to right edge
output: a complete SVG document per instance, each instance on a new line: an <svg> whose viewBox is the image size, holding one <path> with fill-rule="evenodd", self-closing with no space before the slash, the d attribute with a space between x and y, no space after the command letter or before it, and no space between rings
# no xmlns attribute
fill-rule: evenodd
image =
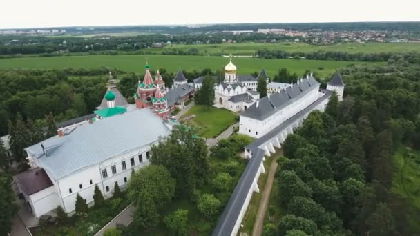
<svg viewBox="0 0 420 236"><path fill-rule="evenodd" d="M168 49L187 51L197 48L204 55L226 54L254 55L256 50L284 50L287 52L333 51L349 53L380 53L380 52L420 52L420 43L340 43L317 46L307 43L224 43L224 44L173 44L164 48L149 48L151 52L161 52Z"/></svg>

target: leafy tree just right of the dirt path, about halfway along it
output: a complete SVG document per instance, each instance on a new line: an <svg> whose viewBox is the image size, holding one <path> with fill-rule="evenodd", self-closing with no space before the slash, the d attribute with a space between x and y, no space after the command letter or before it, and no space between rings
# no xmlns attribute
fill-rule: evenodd
<svg viewBox="0 0 420 236"><path fill-rule="evenodd" d="M278 196L283 206L287 206L293 197L311 197L311 188L294 171L284 170L278 177Z"/></svg>

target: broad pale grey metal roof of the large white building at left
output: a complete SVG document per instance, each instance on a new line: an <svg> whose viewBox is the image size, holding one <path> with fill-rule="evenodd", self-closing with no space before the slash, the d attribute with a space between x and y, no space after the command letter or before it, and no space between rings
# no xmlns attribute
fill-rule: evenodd
<svg viewBox="0 0 420 236"><path fill-rule="evenodd" d="M158 115L142 109L79 126L64 137L56 135L25 150L37 158L50 177L60 179L127 150L151 144L169 133Z"/></svg>

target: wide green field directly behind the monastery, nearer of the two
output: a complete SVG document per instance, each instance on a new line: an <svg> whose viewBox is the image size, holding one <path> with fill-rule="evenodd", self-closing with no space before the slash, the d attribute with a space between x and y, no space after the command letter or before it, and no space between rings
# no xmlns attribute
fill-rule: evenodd
<svg viewBox="0 0 420 236"><path fill-rule="evenodd" d="M0 68L99 68L105 66L127 72L142 73L144 72L144 63L146 60L149 61L152 70L165 68L169 72L176 72L180 68L187 71L202 70L204 68L223 70L223 67L228 62L228 59L225 57L208 56L90 55L0 59ZM385 64L379 62L258 59L252 57L235 58L233 59L233 63L238 67L238 74L250 74L264 68L269 77L274 77L280 68L287 68L289 71L296 72L298 75L303 75L305 70L312 70L319 77L330 77L336 69L351 64Z"/></svg>

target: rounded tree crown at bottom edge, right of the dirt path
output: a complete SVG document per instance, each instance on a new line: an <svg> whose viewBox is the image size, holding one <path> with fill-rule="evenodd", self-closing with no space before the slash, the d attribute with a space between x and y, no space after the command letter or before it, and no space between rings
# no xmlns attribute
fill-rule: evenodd
<svg viewBox="0 0 420 236"><path fill-rule="evenodd" d="M312 220L294 215L281 217L277 226L278 235L280 236L286 235L286 232L289 230L301 230L308 235L315 235L316 229L316 224Z"/></svg>

